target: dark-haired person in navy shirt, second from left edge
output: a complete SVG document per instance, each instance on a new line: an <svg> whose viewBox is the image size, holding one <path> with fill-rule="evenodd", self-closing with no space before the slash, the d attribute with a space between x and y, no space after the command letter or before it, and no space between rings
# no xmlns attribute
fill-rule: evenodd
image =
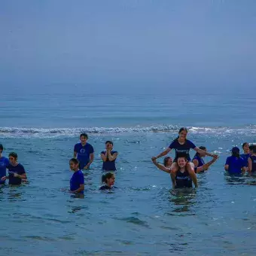
<svg viewBox="0 0 256 256"><path fill-rule="evenodd" d="M23 179L26 179L26 172L20 163L17 162L18 156L16 153L9 154L10 164L7 166L9 175L2 177L2 181L9 179L9 185L20 185Z"/></svg>

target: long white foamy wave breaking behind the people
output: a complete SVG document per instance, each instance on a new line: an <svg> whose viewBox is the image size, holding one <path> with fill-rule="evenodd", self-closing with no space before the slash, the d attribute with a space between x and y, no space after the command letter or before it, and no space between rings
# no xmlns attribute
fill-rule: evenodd
<svg viewBox="0 0 256 256"><path fill-rule="evenodd" d="M0 136L78 136L80 133L90 134L117 134L117 133L178 133L180 126L159 125L159 126L133 126L133 127L84 127L84 128L20 128L0 127ZM190 133L215 133L215 134L256 134L256 125L249 125L242 128L230 127L187 127Z"/></svg>

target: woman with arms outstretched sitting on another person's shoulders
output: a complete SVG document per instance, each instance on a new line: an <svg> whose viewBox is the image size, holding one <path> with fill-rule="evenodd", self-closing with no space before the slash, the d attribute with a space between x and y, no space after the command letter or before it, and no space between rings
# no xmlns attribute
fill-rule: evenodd
<svg viewBox="0 0 256 256"><path fill-rule="evenodd" d="M197 175L194 172L194 163L190 162L190 155L189 155L189 151L190 148L194 149L194 151L197 151L197 153L200 154L206 154L206 156L209 157L215 157L217 158L218 156L215 154L210 154L206 151L203 151L200 148L197 148L193 142L190 142L187 139L187 128L182 127L179 131L178 131L178 138L175 139L170 145L169 148L166 148L165 151L163 151L162 153L160 153L159 155L157 155L157 157L153 157L154 159L157 159L159 157L163 157L166 154L169 153L169 151L171 151L172 149L175 150L175 159L172 163L171 166L171 177L172 177L172 185L175 186L175 177L176 177L176 172L178 171L178 157L181 154L185 154L186 158L187 158L187 172L189 173L190 177L192 178L195 187L197 187Z"/></svg>

